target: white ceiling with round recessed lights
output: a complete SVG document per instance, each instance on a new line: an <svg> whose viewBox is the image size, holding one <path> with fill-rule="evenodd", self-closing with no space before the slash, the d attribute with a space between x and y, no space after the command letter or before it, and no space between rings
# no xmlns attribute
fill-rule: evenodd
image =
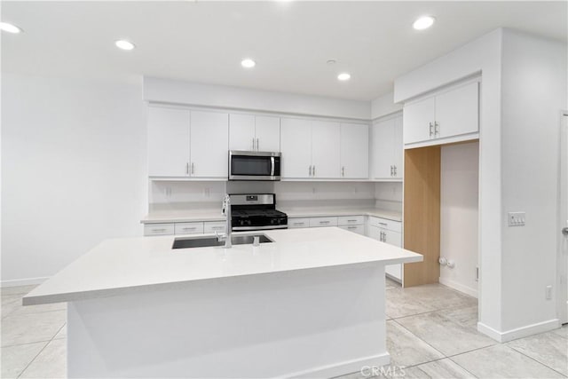
<svg viewBox="0 0 568 379"><path fill-rule="evenodd" d="M417 32L417 16L437 23ZM153 75L369 100L415 67L499 27L567 41L562 2L2 2L2 69ZM137 44L119 51L117 38ZM256 59L254 69L241 59ZM336 59L334 66L327 59ZM341 71L351 81L338 82Z"/></svg>

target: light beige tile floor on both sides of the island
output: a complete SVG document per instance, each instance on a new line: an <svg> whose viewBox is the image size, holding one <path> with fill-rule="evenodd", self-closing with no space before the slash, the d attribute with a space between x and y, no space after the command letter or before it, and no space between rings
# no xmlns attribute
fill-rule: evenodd
<svg viewBox="0 0 568 379"><path fill-rule="evenodd" d="M21 297L32 288L2 288L2 378L65 377L66 305L22 307ZM439 284L400 288L390 280L386 294L391 365L383 367L383 376L568 377L566 326L497 343L477 332L473 297ZM341 378L365 377L368 372Z"/></svg>

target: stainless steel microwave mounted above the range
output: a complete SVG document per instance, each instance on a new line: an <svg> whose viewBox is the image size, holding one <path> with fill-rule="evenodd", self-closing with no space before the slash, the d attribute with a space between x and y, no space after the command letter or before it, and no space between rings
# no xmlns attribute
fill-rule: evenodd
<svg viewBox="0 0 568 379"><path fill-rule="evenodd" d="M229 180L280 180L278 152L229 151Z"/></svg>

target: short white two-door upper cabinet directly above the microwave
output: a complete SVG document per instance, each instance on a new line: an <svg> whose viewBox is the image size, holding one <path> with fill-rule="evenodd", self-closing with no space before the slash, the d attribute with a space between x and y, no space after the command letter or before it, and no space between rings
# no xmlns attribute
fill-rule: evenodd
<svg viewBox="0 0 568 379"><path fill-rule="evenodd" d="M280 151L280 117L230 114L229 148L245 151Z"/></svg>

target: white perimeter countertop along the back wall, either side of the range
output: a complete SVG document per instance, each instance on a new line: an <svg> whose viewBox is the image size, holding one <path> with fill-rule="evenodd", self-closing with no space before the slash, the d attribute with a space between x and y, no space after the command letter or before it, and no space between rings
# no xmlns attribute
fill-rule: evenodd
<svg viewBox="0 0 568 379"><path fill-rule="evenodd" d="M281 208L288 217L333 217L333 216L375 216L393 221L402 221L402 213L394 210L373 207L316 207L316 208ZM215 210L172 210L155 212L142 218L142 224L183 223L194 221L225 221L220 209Z"/></svg>

